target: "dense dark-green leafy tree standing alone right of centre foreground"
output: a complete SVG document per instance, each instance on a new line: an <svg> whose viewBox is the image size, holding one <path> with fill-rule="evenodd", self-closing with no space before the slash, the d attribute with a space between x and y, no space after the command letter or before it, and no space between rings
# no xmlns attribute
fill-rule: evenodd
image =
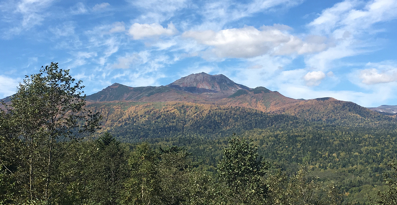
<svg viewBox="0 0 397 205"><path fill-rule="evenodd" d="M265 176L268 164L258 155L258 147L233 134L224 157L218 164L221 204L264 204L269 185Z"/></svg>

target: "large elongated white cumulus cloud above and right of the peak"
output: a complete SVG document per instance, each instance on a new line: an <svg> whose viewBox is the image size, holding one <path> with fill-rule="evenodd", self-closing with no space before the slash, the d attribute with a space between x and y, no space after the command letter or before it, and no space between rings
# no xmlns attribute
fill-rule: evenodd
<svg viewBox="0 0 397 205"><path fill-rule="evenodd" d="M220 58L252 58L262 54L304 54L326 48L324 42L304 42L298 37L280 30L283 25L264 26L260 30L252 26L240 29L186 31L185 38L193 38L200 44L212 46L212 52Z"/></svg>

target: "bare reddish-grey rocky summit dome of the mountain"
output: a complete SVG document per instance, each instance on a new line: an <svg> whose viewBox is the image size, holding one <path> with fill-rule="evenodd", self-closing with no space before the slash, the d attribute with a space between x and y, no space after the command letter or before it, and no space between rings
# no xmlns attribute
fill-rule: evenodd
<svg viewBox="0 0 397 205"><path fill-rule="evenodd" d="M210 75L204 72L182 77L167 86L173 89L187 91L189 93L234 93L239 89L250 89L247 86L233 82L225 75Z"/></svg>

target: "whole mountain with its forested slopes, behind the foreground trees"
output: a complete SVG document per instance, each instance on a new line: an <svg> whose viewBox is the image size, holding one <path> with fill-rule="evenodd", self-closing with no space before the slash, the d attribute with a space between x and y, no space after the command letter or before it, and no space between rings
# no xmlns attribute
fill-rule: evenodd
<svg viewBox="0 0 397 205"><path fill-rule="evenodd" d="M191 74L160 87L114 83L86 100L103 116L101 132L121 142L184 146L215 172L234 132L283 170L306 165L360 203L382 189L382 173L396 159L395 115L333 98L291 99L224 75Z"/></svg>

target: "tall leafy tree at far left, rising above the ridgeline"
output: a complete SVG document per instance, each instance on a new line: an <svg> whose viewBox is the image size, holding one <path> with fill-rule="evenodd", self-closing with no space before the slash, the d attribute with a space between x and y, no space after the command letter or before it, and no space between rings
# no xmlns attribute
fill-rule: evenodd
<svg viewBox="0 0 397 205"><path fill-rule="evenodd" d="M6 158L17 160L3 163L2 169L9 171L20 190L15 201L55 200L52 190L62 182L56 182L58 164L54 162L62 158L71 141L98 129L100 115L85 109L81 82L75 82L69 70L59 69L58 63L51 63L40 73L26 76L11 97L12 107L6 106L1 116L1 149L4 153L9 146L15 147L17 151Z"/></svg>

